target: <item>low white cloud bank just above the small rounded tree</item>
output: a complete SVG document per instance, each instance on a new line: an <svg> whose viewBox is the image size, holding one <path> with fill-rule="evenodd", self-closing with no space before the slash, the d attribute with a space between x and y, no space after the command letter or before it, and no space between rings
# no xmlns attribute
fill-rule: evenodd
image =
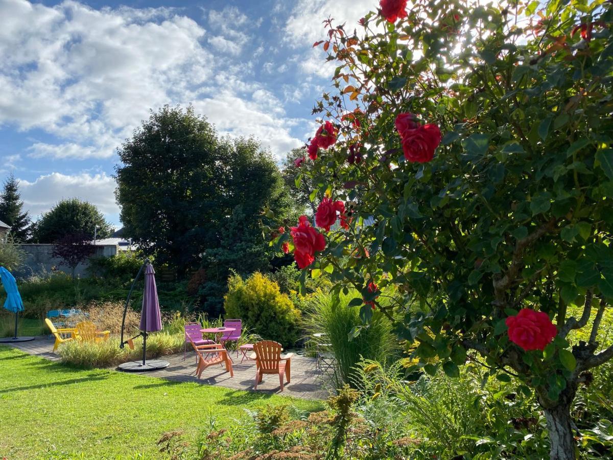
<svg viewBox="0 0 613 460"><path fill-rule="evenodd" d="M115 203L115 186L115 179L106 174L53 172L33 182L20 180L21 199L32 217L46 212L61 199L77 197L95 204L110 221L117 223L119 207Z"/></svg>

